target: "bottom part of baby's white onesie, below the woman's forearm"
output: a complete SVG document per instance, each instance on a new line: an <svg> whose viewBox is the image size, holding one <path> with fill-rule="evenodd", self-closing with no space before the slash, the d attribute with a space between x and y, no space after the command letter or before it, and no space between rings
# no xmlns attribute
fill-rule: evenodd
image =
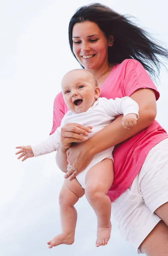
<svg viewBox="0 0 168 256"><path fill-rule="evenodd" d="M108 148L107 150L104 150L101 153L96 154L92 161L90 162L90 164L87 166L86 169L84 169L83 172L80 172L77 176L76 179L78 180L78 183L81 185L81 187L83 189L85 189L85 177L87 172L89 171L89 169L91 167L93 167L94 165L96 165L97 163L100 163L102 160L104 160L105 158L110 158L113 160L113 155L112 155L112 151L113 151L114 147L112 148Z"/></svg>

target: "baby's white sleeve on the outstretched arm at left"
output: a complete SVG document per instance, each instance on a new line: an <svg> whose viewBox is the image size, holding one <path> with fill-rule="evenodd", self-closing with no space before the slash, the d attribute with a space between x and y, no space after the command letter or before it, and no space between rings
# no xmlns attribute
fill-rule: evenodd
<svg viewBox="0 0 168 256"><path fill-rule="evenodd" d="M42 140L36 145L31 145L35 157L49 154L56 151L61 138L61 127L58 127L55 133L51 134L46 140Z"/></svg>

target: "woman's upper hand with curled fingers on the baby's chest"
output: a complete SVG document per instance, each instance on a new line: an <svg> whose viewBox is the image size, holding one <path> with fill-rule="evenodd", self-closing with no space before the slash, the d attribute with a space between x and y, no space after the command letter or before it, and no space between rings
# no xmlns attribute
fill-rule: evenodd
<svg viewBox="0 0 168 256"><path fill-rule="evenodd" d="M67 123L61 128L61 148L70 148L73 142L83 142L92 132L92 126L84 126L77 123Z"/></svg>

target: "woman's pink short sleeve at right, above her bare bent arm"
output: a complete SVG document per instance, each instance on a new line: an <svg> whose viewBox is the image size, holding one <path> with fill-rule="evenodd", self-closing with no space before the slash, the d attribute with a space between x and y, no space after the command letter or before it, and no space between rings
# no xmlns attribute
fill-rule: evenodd
<svg viewBox="0 0 168 256"><path fill-rule="evenodd" d="M154 82L142 64L134 59L127 60L122 86L125 96L131 96L140 88L149 88L154 90L156 100L159 99L159 92Z"/></svg>

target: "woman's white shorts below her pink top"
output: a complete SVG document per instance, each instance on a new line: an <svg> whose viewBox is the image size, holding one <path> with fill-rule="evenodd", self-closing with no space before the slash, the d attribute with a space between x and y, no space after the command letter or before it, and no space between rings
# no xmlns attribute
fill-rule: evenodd
<svg viewBox="0 0 168 256"><path fill-rule="evenodd" d="M149 151L132 185L112 203L112 213L126 240L139 246L161 220L155 210L168 202L168 139Z"/></svg>

